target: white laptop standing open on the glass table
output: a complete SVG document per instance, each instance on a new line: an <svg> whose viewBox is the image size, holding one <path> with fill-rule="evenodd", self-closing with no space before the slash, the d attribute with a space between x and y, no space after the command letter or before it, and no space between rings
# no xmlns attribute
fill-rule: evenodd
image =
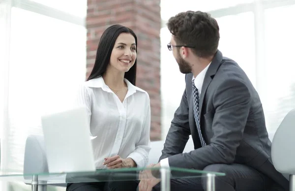
<svg viewBox="0 0 295 191"><path fill-rule="evenodd" d="M95 171L85 107L41 117L50 173Z"/></svg>

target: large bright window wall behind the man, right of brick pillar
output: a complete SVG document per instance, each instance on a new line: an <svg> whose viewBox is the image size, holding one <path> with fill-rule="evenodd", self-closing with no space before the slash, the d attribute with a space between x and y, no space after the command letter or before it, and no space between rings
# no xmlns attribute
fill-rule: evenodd
<svg viewBox="0 0 295 191"><path fill-rule="evenodd" d="M170 4L174 4L174 8ZM295 27L290 24L295 16L295 1L209 0L201 3L182 0L179 3L161 0L161 17L164 22L186 10L207 11L216 18L220 26L219 50L225 57L235 60L250 78L263 102L267 130L274 133L285 115L295 109L295 64L290 58L295 44ZM161 38L166 38L165 35L161 33ZM162 46L166 44L161 43ZM177 104L169 104L169 99L173 99L172 96L167 96L171 90L165 89L169 75L165 74L168 73L167 68L162 69L168 67L165 48L161 54L162 110L165 118L163 127L167 132L179 96ZM180 89L182 87L184 88L181 85Z"/></svg>

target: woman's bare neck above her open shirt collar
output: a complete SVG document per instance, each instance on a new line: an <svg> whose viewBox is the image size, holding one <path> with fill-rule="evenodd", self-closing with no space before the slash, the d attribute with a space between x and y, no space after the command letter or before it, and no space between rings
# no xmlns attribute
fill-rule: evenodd
<svg viewBox="0 0 295 191"><path fill-rule="evenodd" d="M124 74L120 71L114 71L111 68L108 68L106 72L102 75L103 80L107 86L113 90L121 90L127 85L124 82Z"/></svg>

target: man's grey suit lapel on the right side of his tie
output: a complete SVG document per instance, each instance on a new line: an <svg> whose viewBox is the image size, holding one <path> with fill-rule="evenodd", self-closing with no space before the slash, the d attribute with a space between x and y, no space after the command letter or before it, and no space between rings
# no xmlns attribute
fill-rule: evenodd
<svg viewBox="0 0 295 191"><path fill-rule="evenodd" d="M202 90L201 90L201 96L200 96L200 100L199 100L199 113L200 113L200 115L202 113L203 101L204 101L204 97L205 97L207 88L208 88L211 80L213 79L214 75L216 74L216 72L221 64L222 58L223 58L222 53L219 50L217 50L210 66L208 67L208 70L206 72L203 86L202 86Z"/></svg>

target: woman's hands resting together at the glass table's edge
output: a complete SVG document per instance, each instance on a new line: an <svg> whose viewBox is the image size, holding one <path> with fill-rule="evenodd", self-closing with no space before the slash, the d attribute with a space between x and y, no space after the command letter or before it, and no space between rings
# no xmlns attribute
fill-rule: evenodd
<svg viewBox="0 0 295 191"><path fill-rule="evenodd" d="M118 155L114 157L105 158L103 165L107 165L109 169L136 167L136 163L133 159L122 159Z"/></svg>

